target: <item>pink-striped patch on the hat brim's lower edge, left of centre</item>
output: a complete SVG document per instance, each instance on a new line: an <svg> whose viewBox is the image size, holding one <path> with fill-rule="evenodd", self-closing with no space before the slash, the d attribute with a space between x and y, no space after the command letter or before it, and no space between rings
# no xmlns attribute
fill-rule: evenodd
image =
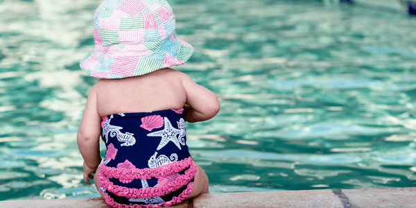
<svg viewBox="0 0 416 208"><path fill-rule="evenodd" d="M119 57L114 58L111 65L110 73L119 74L121 76L132 76L136 69L136 63L139 57Z"/></svg>

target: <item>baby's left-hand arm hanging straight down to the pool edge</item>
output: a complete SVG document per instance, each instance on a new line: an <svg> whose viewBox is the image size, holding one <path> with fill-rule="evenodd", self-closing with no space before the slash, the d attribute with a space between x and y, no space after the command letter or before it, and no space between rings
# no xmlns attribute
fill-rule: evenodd
<svg viewBox="0 0 416 208"><path fill-rule="evenodd" d="M98 165L101 162L99 137L101 135L101 118L98 115L96 92L92 87L87 98L83 119L78 128L77 143L81 155L84 158L84 180L87 184L89 178L94 178Z"/></svg>

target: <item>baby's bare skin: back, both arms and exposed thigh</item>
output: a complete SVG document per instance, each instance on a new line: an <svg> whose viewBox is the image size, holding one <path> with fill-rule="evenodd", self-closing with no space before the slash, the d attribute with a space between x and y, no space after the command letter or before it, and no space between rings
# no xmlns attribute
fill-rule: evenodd
<svg viewBox="0 0 416 208"><path fill-rule="evenodd" d="M211 119L220 110L218 98L213 92L194 83L186 74L173 69L159 69L132 78L98 80L89 92L77 135L78 148L84 158L85 182L90 184L88 178L94 178L94 184L103 196L97 179L97 173L100 172L98 165L101 162L101 117L182 107L185 107L185 120L191 123ZM198 164L193 163L197 167L197 173L188 198L209 193L207 174ZM92 173L95 173L94 176Z"/></svg>

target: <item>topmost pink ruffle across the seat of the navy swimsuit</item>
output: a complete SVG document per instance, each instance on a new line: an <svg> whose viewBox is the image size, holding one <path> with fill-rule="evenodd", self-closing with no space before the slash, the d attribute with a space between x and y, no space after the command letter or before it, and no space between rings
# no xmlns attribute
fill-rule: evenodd
<svg viewBox="0 0 416 208"><path fill-rule="evenodd" d="M191 166L191 164L192 157L188 157L177 162L171 162L169 164L157 168L113 168L105 166L105 164L101 164L101 172L104 173L105 176L110 178L115 177L122 180L146 180L152 177L161 178L166 177L168 175L172 175L174 173L178 173L180 171L183 171L185 168Z"/></svg>

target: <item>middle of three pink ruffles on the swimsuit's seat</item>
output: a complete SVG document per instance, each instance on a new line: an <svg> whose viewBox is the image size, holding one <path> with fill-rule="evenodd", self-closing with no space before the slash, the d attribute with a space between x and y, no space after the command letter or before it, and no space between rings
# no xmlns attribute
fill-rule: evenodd
<svg viewBox="0 0 416 208"><path fill-rule="evenodd" d="M105 190L114 193L116 196L122 196L125 198L152 198L155 196L164 196L172 191L176 191L183 187L184 185L188 184L196 174L196 166L191 164L189 169L185 171L184 175L181 175L173 182L167 182L162 187L149 187L149 188L127 188L121 187L118 185L114 185L113 182L105 177L105 174L98 173L98 181L100 182L101 187Z"/></svg>

